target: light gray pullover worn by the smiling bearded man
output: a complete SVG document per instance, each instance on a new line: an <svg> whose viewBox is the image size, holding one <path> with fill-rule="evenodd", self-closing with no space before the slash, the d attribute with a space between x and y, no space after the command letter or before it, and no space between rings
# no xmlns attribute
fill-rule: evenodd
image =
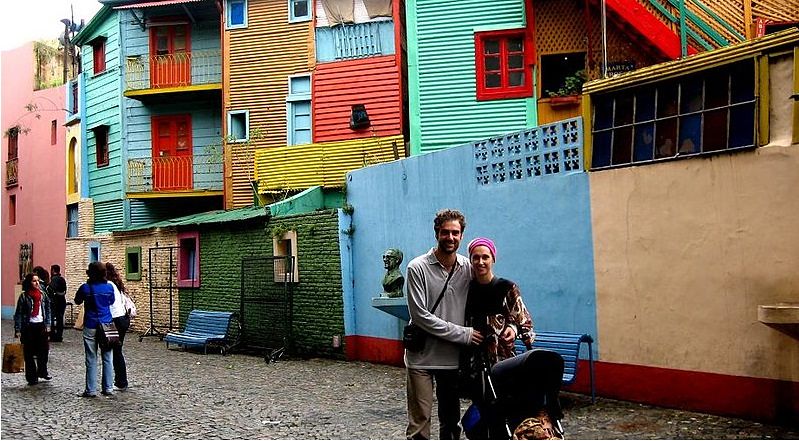
<svg viewBox="0 0 799 441"><path fill-rule="evenodd" d="M428 332L424 349L405 351L405 366L412 369L457 369L462 346L472 338L472 328L463 326L466 297L472 270L469 259L457 255L455 272L435 314L431 314L449 273L430 249L408 264L408 312L411 323Z"/></svg>

